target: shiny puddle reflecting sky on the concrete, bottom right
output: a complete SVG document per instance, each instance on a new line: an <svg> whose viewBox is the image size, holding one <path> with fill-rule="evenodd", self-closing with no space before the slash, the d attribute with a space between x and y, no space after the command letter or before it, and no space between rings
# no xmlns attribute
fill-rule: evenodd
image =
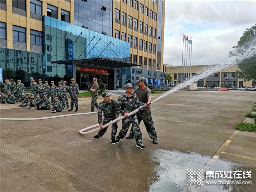
<svg viewBox="0 0 256 192"><path fill-rule="evenodd" d="M207 185L206 181L232 181L226 178L205 178L205 172L209 168L204 168L210 161L210 156L205 156L196 152L181 153L180 151L155 150L151 153L151 161L156 163L154 168L155 174L158 176L158 181L153 181L150 184L150 192L231 192L244 191L242 185ZM208 164L207 164L208 165ZM202 170L203 185L187 185L187 169L188 170ZM252 170L253 169L253 170ZM246 167L223 159L217 159L210 165L208 171L247 171L255 172L255 167ZM253 174L253 173L252 173ZM253 177L252 177L253 178ZM250 181L248 179L240 179L242 181ZM253 182L253 181L252 181ZM249 185L248 185L249 186ZM252 187L252 185L251 185ZM236 188L236 189L234 189ZM250 187L249 187L250 188ZM251 191L250 189L247 189ZM246 191L247 191L246 190Z"/></svg>

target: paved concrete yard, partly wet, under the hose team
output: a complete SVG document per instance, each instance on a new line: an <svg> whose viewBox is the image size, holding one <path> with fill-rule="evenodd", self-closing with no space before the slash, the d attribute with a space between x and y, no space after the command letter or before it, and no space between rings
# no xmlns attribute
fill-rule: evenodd
<svg viewBox="0 0 256 192"><path fill-rule="evenodd" d="M153 99L160 94L153 94ZM117 98L117 96L113 96ZM100 99L98 99L99 101ZM146 150L135 140L111 144L79 130L97 124L97 115L37 121L1 121L1 191L255 191L256 133L236 131L256 102L256 91L177 91L151 105L159 144L140 127ZM70 114L1 104L1 117ZM79 113L90 98L79 98ZM118 123L118 132L121 122ZM187 169L251 170L251 185L188 187Z"/></svg>

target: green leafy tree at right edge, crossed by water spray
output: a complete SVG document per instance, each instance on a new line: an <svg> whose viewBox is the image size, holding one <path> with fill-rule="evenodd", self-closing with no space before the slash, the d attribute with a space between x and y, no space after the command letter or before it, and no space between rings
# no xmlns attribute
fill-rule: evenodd
<svg viewBox="0 0 256 192"><path fill-rule="evenodd" d="M246 29L244 31L242 37L237 42L236 46L233 46L235 50L229 52L229 57L235 56L237 53L241 53L243 47L249 46L250 44L255 44L256 41L256 24L252 26L250 29ZM243 79L245 81L256 81L256 55L253 57L242 61L237 64L238 70L238 78Z"/></svg>

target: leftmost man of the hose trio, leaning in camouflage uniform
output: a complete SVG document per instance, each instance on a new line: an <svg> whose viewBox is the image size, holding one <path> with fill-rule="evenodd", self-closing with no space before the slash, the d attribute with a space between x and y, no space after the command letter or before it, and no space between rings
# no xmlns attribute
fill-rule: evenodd
<svg viewBox="0 0 256 192"><path fill-rule="evenodd" d="M98 123L99 123L99 132L97 135L93 137L93 139L98 139L104 135L107 131L108 127L103 128L103 125L109 123L110 121L118 118L118 113L115 110L116 100L110 98L110 93L105 91L101 94L103 97L103 101L99 103L98 108ZM102 122L102 112L103 112L103 122ZM116 144L116 132L117 132L117 123L112 124L112 132L111 132L111 142L112 144Z"/></svg>

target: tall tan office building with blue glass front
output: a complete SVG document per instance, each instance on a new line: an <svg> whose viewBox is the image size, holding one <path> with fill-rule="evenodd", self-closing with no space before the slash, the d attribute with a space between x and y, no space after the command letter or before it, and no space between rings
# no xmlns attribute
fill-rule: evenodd
<svg viewBox="0 0 256 192"><path fill-rule="evenodd" d="M161 0L1 0L3 77L75 77L82 88L96 77L108 89L163 79L164 10Z"/></svg>

